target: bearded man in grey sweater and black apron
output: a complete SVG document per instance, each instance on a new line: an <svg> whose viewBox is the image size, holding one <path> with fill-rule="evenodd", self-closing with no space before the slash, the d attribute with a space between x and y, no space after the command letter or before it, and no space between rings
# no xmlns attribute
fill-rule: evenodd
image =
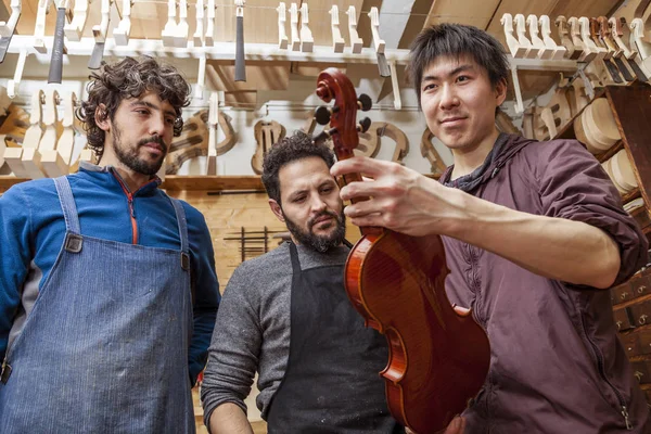
<svg viewBox="0 0 651 434"><path fill-rule="evenodd" d="M349 252L334 156L302 132L266 155L269 206L291 242L243 263L226 286L202 383L213 434L253 433L244 399L258 372L269 433L404 433L388 413L384 336L347 298Z"/></svg>

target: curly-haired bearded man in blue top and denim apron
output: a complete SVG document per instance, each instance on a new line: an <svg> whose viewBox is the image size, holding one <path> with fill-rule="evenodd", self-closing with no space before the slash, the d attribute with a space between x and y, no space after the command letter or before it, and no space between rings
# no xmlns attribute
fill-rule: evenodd
<svg viewBox="0 0 651 434"><path fill-rule="evenodd" d="M77 116L100 165L0 197L0 432L194 433L213 246L155 176L190 87L151 58L91 78Z"/></svg>

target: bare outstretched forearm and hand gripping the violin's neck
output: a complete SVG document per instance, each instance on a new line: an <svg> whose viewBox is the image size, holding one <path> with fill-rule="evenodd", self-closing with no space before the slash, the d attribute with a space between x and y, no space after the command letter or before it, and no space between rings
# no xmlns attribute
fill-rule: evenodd
<svg viewBox="0 0 651 434"><path fill-rule="evenodd" d="M332 168L334 176L349 173L372 178L342 189L343 200L372 197L346 207L355 225L448 235L574 284L609 288L620 270L617 244L585 222L496 205L393 163L354 157Z"/></svg>

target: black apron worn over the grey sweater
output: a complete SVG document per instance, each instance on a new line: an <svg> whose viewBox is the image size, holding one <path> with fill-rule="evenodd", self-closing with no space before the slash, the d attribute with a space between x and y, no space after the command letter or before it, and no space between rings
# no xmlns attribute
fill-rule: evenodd
<svg viewBox="0 0 651 434"><path fill-rule="evenodd" d="M366 328L344 288L344 266L302 270L290 243L290 358L267 418L269 434L404 433L388 412L386 339Z"/></svg>

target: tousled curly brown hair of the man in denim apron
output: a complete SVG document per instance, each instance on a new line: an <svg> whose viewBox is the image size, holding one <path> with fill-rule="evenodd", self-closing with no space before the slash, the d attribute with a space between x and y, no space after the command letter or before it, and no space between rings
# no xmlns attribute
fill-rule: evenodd
<svg viewBox="0 0 651 434"><path fill-rule="evenodd" d="M178 137L183 128L181 108L190 104L190 85L171 65L158 64L154 58L143 56L141 60L126 58L113 65L103 64L100 73L88 77L88 101L81 102L76 116L84 123L88 136L88 148L92 149L101 159L104 153L104 131L95 124L95 111L100 104L106 110L101 111L100 118L106 116L111 120L119 103L128 98L138 98L146 91L158 93L162 101L167 101L174 107L177 119L174 125L174 136Z"/></svg>

